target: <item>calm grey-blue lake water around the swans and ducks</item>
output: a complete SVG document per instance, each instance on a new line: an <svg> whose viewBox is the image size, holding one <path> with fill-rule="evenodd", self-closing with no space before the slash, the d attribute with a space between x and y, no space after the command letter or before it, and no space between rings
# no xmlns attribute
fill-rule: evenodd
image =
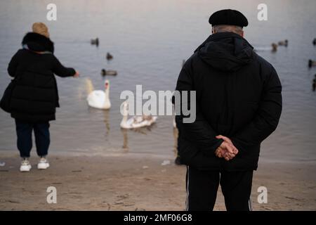
<svg viewBox="0 0 316 225"><path fill-rule="evenodd" d="M32 23L42 21L55 42L55 55L79 70L79 79L58 78L60 105L51 122L51 152L150 153L173 155L173 117L159 117L157 124L138 131L119 127L119 95L124 90L173 90L183 59L209 36L209 15L222 8L242 11L249 20L245 38L275 66L283 85L284 109L277 131L264 143L262 160L316 162L316 93L312 79L316 68L316 1L265 1L268 21L257 19L261 1L208 0L107 0L60 1L57 21L46 21L52 1L0 1L0 93L9 77L9 60ZM91 46L98 37L100 45ZM288 39L276 53L265 50L272 42ZM107 62L109 51L114 59ZM102 68L118 71L110 79L112 108L88 108L86 78L103 89ZM15 127L10 115L0 112L0 148L16 150ZM35 151L33 151L33 154Z"/></svg>

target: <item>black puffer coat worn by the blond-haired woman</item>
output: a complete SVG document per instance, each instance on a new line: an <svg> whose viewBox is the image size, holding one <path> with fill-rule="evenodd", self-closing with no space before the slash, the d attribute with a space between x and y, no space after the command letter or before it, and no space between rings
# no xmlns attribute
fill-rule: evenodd
<svg viewBox="0 0 316 225"><path fill-rule="evenodd" d="M22 46L8 65L8 74L16 79L11 116L23 122L55 120L59 103L54 73L70 77L75 71L60 64L53 55L53 42L41 34L27 33Z"/></svg>

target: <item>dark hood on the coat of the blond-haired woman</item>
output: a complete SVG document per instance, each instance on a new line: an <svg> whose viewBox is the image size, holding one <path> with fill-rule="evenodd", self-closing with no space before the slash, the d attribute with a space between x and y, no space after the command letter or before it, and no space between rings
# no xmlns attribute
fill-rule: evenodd
<svg viewBox="0 0 316 225"><path fill-rule="evenodd" d="M54 43L44 35L29 32L22 39L22 46L27 45L27 49L32 51L54 52Z"/></svg>

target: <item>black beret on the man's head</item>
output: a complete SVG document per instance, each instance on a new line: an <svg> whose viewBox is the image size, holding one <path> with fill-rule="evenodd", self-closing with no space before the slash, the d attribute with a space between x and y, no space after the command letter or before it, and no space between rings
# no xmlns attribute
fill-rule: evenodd
<svg viewBox="0 0 316 225"><path fill-rule="evenodd" d="M217 11L209 18L209 23L213 25L235 25L246 27L248 25L247 18L237 10L223 9Z"/></svg>

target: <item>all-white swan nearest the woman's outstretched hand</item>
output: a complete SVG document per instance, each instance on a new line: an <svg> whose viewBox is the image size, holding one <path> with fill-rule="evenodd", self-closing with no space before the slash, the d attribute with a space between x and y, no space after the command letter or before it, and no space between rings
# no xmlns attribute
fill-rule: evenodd
<svg viewBox="0 0 316 225"><path fill-rule="evenodd" d="M98 108L101 110L107 110L111 108L110 102L110 82L105 80L105 91L91 91L86 98L88 105L93 108Z"/></svg>

